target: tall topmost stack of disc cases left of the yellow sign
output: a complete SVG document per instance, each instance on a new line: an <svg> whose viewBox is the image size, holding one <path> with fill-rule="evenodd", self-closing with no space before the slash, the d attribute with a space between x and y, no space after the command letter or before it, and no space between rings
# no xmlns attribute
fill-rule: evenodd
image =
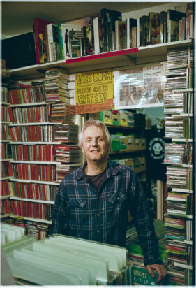
<svg viewBox="0 0 196 288"><path fill-rule="evenodd" d="M45 73L45 101L70 103L68 92L69 75L63 69L48 69Z"/></svg>

